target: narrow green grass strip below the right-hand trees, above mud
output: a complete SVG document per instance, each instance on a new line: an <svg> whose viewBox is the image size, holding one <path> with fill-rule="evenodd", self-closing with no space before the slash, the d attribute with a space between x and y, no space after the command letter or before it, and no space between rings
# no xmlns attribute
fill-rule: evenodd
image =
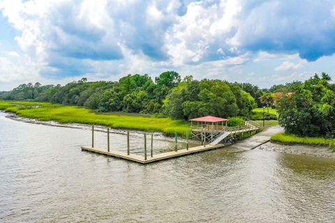
<svg viewBox="0 0 335 223"><path fill-rule="evenodd" d="M335 139L325 139L322 137L297 137L294 134L279 133L271 137L271 141L283 144L306 144L315 146L330 146L335 144Z"/></svg>

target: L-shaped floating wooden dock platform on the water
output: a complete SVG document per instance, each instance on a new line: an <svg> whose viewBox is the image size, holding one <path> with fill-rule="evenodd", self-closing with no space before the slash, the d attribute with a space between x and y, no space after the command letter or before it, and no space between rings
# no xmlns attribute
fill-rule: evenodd
<svg viewBox="0 0 335 223"><path fill-rule="evenodd" d="M106 149L103 148L92 148L91 146L82 146L82 151L87 151L91 153L99 153L102 155L108 155L111 157L118 157L124 160L130 160L133 162L138 162L141 164L148 164L151 162L157 162L161 160L168 160L174 157L180 157L182 155L191 155L194 153L201 153L204 151L211 151L216 148L222 148L224 147L224 144L217 144L215 146L213 145L206 145L206 146L196 146L188 149L181 149L179 151L171 151L167 153L159 153L154 155L154 157L147 156L147 160L144 159L144 156L142 155L135 155L135 154L130 154L127 155L127 153L121 152L121 151L110 151L108 152Z"/></svg>

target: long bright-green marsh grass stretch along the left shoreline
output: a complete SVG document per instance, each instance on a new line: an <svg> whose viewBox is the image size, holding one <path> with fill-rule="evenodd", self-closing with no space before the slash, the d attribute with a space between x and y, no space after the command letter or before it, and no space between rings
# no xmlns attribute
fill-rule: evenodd
<svg viewBox="0 0 335 223"><path fill-rule="evenodd" d="M34 107L38 105L40 107ZM40 121L57 121L59 123L82 123L105 125L110 128L164 132L165 134L186 134L190 124L170 118L156 118L134 114L109 113L97 114L91 109L76 106L62 106L45 102L8 102L0 101L0 110L13 112L25 118Z"/></svg>

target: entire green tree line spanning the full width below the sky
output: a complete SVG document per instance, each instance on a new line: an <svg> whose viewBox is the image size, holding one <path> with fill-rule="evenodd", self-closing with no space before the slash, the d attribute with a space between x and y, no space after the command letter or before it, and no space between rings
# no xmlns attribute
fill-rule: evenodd
<svg viewBox="0 0 335 223"><path fill-rule="evenodd" d="M260 89L250 83L219 79L181 79L167 71L127 75L118 82L87 82L86 78L65 86L20 84L0 91L2 100L31 100L89 107L97 112L158 114L174 119L198 116L244 116L262 119L255 107L277 108L278 121L286 132L299 136L335 137L335 85L329 75L314 75L305 82L292 82ZM270 117L269 118L276 118Z"/></svg>

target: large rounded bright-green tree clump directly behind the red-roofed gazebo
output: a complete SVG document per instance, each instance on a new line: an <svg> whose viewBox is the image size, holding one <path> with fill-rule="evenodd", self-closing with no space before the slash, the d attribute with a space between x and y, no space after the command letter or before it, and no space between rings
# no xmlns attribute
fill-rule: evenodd
<svg viewBox="0 0 335 223"><path fill-rule="evenodd" d="M238 84L186 77L168 94L163 111L172 118L188 119L208 115L246 116L254 107L255 99Z"/></svg>

